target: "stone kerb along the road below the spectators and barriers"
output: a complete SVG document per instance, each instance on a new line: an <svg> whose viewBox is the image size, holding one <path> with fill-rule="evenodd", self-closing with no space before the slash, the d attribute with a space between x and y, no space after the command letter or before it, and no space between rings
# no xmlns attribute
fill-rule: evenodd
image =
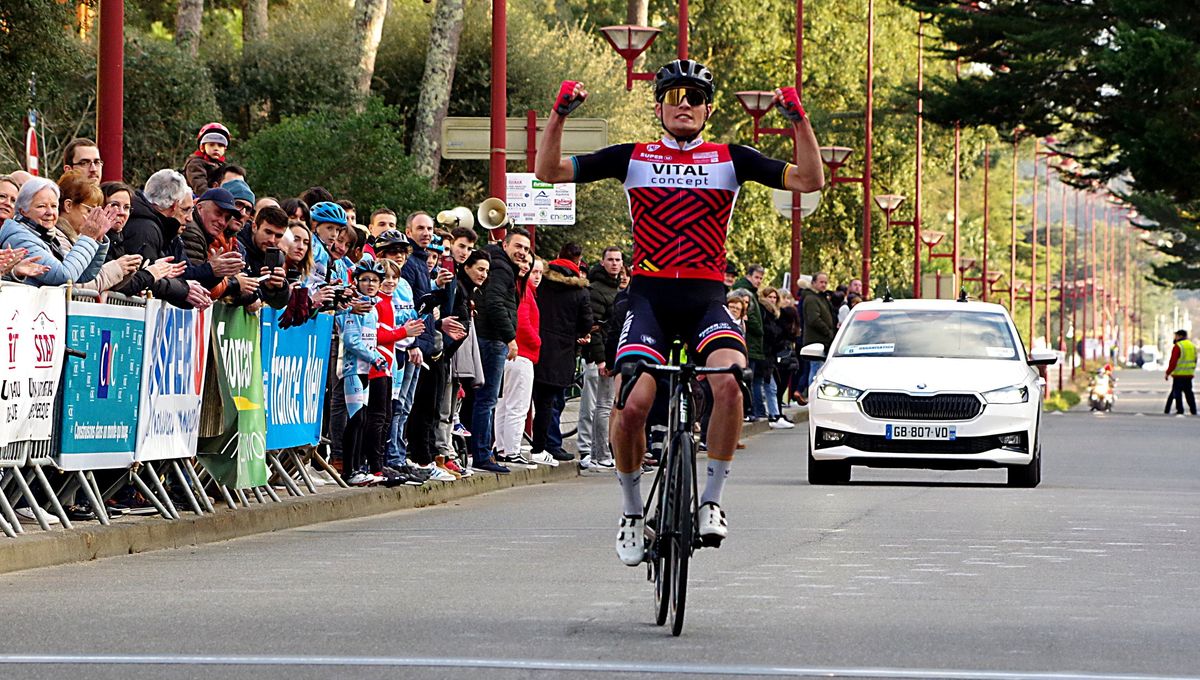
<svg viewBox="0 0 1200 680"><path fill-rule="evenodd" d="M427 507L505 488L564 481L578 475L576 464L562 464L557 468L539 465L534 470L514 469L509 475L476 473L452 483L338 488L304 497L282 497L281 503L268 500L265 504L238 510L221 506L215 513L199 517L184 513L182 518L174 522L154 516L120 518L109 526L76 525L70 531L41 531L36 526L26 526L26 532L22 536L0 538L0 573L198 546L310 524Z"/></svg>

